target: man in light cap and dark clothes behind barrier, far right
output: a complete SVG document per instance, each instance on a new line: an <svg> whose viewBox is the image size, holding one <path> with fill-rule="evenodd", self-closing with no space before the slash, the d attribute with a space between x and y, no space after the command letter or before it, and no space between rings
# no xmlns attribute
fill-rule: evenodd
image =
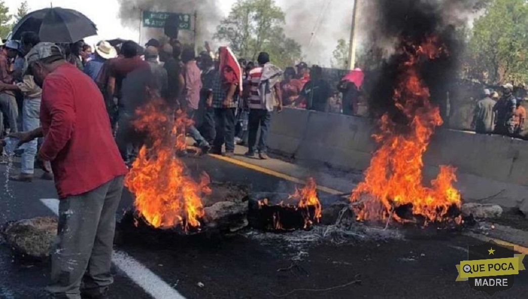
<svg viewBox="0 0 528 299"><path fill-rule="evenodd" d="M517 107L517 99L513 96L513 85L511 83L503 85L502 92L502 98L495 105L495 133L512 135L515 132L514 114Z"/></svg>

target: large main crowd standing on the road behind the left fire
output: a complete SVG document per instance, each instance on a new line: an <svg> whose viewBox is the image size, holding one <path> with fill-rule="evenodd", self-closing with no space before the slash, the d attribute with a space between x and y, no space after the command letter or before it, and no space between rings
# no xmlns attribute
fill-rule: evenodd
<svg viewBox="0 0 528 299"><path fill-rule="evenodd" d="M2 47L2 136L18 130L29 130L38 124L39 91L31 90L31 86L27 86L21 74L24 68L24 53L29 46L36 44L36 39L35 34L28 32L22 41L8 41ZM28 40L28 45L24 45L25 40ZM166 99L174 109L183 108L188 117L194 120L194 125L187 128L187 133L194 138L196 145L201 147L203 152L222 154L222 147L225 147L223 154L229 156L234 152L234 144L238 143L249 146L249 154L260 151L260 157L267 158L265 143L271 115L259 115L255 112L258 109L254 104L256 100L252 98L256 97L258 90L251 90L256 89L254 85L260 80L259 70L263 64L269 63L270 58L266 58L266 53L260 57L263 60L257 62L239 59L237 67L240 68L240 87L234 84L231 89L224 90L226 83L216 78L219 77L219 72L223 72L219 69L219 57L210 51L195 55L192 48L182 46L177 40L162 44L156 39L151 39L145 47L132 41L121 41L115 45L109 41L101 41L92 48L82 40L58 46L65 61L97 83L105 98L112 130L125 162L130 163L133 160L137 148L135 144L130 143L130 136L134 134L130 120L134 117L138 105L144 102L144 99L138 98L141 92L138 92L140 85L137 82L152 79L148 74L142 75L141 71L135 71L147 67L153 73L158 87L154 90L159 91L159 97ZM133 72L134 76L128 79L130 83L126 84L125 78ZM288 67L284 72L280 71L280 80L272 89L274 94L279 95L274 106L280 104L281 107L356 115L363 77L363 72L355 69L347 74L337 87L331 87L323 77L321 67L314 65L309 68L307 63L300 62L295 68ZM127 93L130 99L123 100L124 94ZM25 98L33 100L25 101ZM256 138L255 128L261 130L258 145L260 150L252 148L256 146L256 141L253 141L253 138ZM27 165L32 164L29 156L35 155L37 145L31 144L29 147L30 150L22 153ZM46 172L48 178L51 177L49 173L51 171ZM31 166L24 166L20 174L13 176L13 180L32 179Z"/></svg>

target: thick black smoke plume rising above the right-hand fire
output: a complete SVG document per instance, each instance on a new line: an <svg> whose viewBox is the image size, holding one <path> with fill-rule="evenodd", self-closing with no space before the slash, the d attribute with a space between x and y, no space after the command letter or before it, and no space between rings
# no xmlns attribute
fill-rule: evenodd
<svg viewBox="0 0 528 299"><path fill-rule="evenodd" d="M486 0L373 0L362 1L360 30L368 36L367 44L381 48L384 61L369 90L369 108L372 116L389 113L399 118L393 93L403 54L403 42L419 45L428 36L438 36L448 55L422 63L420 75L429 87L431 100L440 105L442 117L446 113L447 92L457 76L463 37L456 28L465 25L469 17L482 8Z"/></svg>

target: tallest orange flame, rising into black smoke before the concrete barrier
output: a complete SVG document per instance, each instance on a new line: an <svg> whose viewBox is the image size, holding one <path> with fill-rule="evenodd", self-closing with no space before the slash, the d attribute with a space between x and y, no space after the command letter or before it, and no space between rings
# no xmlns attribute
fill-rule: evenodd
<svg viewBox="0 0 528 299"><path fill-rule="evenodd" d="M422 185L423 154L427 150L435 128L442 124L440 110L429 98L429 89L420 79L419 67L424 60L447 54L436 37L427 38L421 45L404 44L407 60L400 66L399 83L394 90L394 105L408 121L407 133L402 125L393 122L388 114L381 117L380 132L373 135L380 144L373 154L365 179L352 192L351 201L358 220L384 220L389 217L400 222L395 209L412 205L413 215L425 217L427 222L447 220L450 207L460 207L460 193L454 188L456 169L440 166L431 186ZM460 217L455 221L460 222Z"/></svg>

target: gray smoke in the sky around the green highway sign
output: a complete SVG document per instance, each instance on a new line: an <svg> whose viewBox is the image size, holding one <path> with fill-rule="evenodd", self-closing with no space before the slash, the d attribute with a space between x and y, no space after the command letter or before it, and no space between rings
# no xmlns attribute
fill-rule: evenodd
<svg viewBox="0 0 528 299"><path fill-rule="evenodd" d="M137 27L141 20L141 11L186 13L194 15L197 13L196 41L201 43L210 40L216 25L222 19L218 3L220 0L118 0L120 9L119 17L125 26ZM183 42L192 42L191 31L181 31ZM162 38L163 29L142 29L142 40L150 38Z"/></svg>

